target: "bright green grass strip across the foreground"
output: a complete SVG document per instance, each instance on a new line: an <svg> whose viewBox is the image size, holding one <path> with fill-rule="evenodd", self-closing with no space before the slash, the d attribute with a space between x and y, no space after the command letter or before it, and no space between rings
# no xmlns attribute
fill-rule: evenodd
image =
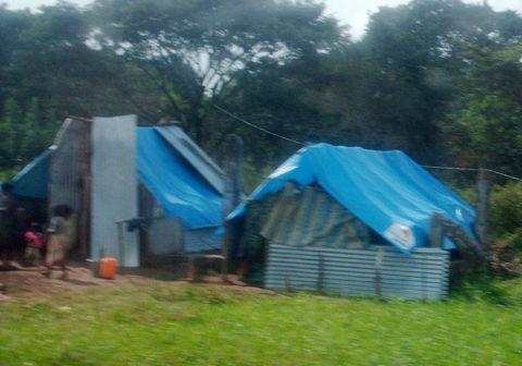
<svg viewBox="0 0 522 366"><path fill-rule="evenodd" d="M434 303L169 283L11 301L0 365L519 365L522 282L468 286Z"/></svg>

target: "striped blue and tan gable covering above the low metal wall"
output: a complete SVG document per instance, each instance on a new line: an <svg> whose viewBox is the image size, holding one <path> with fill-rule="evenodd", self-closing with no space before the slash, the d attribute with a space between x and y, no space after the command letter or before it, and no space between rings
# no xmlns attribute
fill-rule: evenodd
<svg viewBox="0 0 522 366"><path fill-rule="evenodd" d="M260 235L291 246L362 249L366 225L323 190L288 183L273 206Z"/></svg>

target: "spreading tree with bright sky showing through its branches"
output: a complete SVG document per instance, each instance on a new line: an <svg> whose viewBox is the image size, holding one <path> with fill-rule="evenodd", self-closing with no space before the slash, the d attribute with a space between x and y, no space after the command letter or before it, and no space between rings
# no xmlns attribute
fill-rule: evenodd
<svg viewBox="0 0 522 366"><path fill-rule="evenodd" d="M234 95L263 58L314 60L344 41L324 4L275 0L98 0L98 41L162 93L165 119L204 139L206 100ZM223 90L227 90L223 94Z"/></svg>

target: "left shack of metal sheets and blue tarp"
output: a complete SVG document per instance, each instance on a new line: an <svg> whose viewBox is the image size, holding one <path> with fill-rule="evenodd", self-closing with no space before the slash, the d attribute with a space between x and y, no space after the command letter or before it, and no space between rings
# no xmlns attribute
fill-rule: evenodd
<svg viewBox="0 0 522 366"><path fill-rule="evenodd" d="M55 144L13 180L15 193L26 205L70 205L79 217L83 258L103 248L136 267L140 254L221 249L224 173L178 126L136 122L67 119ZM133 231L138 218L147 225Z"/></svg>

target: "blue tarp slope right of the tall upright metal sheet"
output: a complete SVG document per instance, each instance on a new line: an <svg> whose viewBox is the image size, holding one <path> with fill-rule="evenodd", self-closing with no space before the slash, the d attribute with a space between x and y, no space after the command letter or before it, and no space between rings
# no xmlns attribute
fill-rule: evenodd
<svg viewBox="0 0 522 366"><path fill-rule="evenodd" d="M137 169L141 182L160 202L165 217L179 217L185 228L217 225L223 198L160 134L138 129Z"/></svg>

